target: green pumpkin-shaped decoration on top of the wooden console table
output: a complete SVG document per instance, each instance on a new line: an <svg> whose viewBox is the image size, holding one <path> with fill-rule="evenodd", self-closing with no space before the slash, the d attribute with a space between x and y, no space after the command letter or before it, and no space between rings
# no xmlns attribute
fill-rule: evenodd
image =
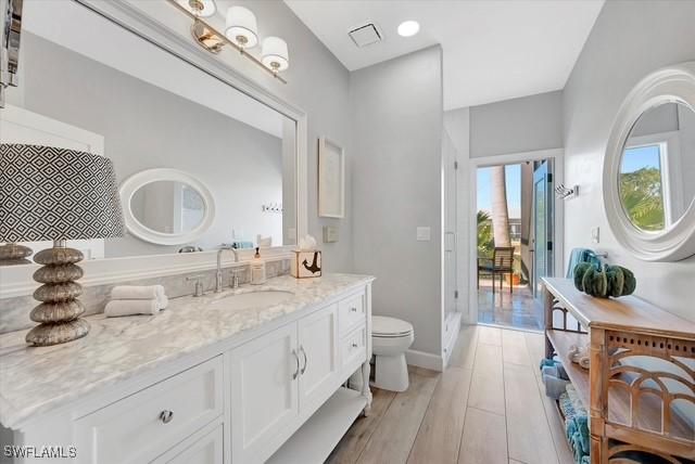
<svg viewBox="0 0 695 464"><path fill-rule="evenodd" d="M632 294L637 281L631 270L621 266L580 262L574 267L574 286L587 295L608 298Z"/></svg>

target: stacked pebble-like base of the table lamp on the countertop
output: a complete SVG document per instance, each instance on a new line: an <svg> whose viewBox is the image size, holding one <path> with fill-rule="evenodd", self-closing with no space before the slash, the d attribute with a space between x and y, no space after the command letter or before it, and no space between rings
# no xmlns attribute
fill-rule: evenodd
<svg viewBox="0 0 695 464"><path fill-rule="evenodd" d="M64 242L55 242L53 248L36 254L34 260L43 267L34 273L34 280L42 285L34 292L41 301L29 318L39 325L26 334L26 341L34 346L50 346L76 340L89 333L89 323L79 317L85 307L77 299L83 287L76 281L83 276L77 262L83 260L78 249L67 248Z"/></svg>

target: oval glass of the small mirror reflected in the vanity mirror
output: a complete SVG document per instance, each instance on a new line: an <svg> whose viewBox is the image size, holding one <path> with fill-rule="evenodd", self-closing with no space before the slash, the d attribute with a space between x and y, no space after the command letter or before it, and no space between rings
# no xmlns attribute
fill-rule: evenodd
<svg viewBox="0 0 695 464"><path fill-rule="evenodd" d="M135 191L129 206L138 222L165 234L191 232L205 219L205 201L201 193L179 181L146 183Z"/></svg>

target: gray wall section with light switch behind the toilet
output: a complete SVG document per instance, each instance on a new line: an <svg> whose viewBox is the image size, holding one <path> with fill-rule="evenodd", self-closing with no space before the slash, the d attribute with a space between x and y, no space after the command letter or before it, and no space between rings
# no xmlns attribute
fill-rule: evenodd
<svg viewBox="0 0 695 464"><path fill-rule="evenodd" d="M377 276L374 313L413 323L413 349L441 353L442 51L351 76L354 270ZM431 228L430 242L416 228Z"/></svg>

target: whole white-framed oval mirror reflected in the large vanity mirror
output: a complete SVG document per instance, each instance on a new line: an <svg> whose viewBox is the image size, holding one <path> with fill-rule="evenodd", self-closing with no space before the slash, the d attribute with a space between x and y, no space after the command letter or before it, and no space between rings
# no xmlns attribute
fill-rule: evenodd
<svg viewBox="0 0 695 464"><path fill-rule="evenodd" d="M178 169L148 169L121 185L128 231L159 245L182 245L213 223L215 203L207 188Z"/></svg>

